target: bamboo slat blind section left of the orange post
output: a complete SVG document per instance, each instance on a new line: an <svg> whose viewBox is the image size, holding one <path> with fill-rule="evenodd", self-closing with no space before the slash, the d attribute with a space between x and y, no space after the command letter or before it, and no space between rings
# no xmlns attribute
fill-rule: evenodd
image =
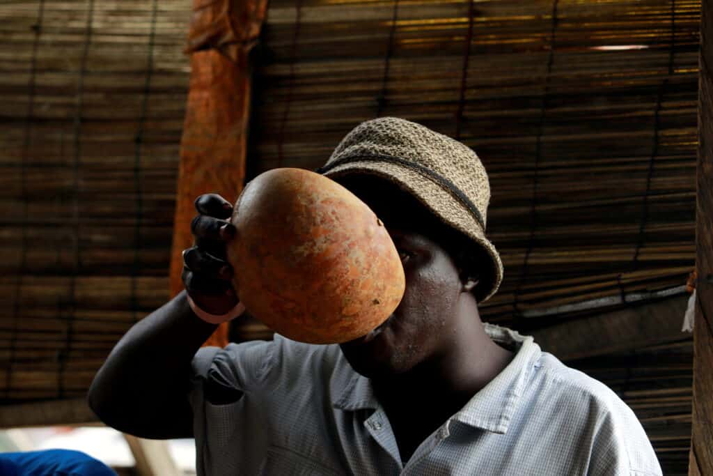
<svg viewBox="0 0 713 476"><path fill-rule="evenodd" d="M0 3L0 400L78 397L168 298L183 0Z"/></svg>

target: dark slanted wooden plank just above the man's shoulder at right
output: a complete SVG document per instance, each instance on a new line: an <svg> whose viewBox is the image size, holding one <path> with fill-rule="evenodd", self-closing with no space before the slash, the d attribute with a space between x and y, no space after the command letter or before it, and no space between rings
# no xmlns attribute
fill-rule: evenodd
<svg viewBox="0 0 713 476"><path fill-rule="evenodd" d="M565 321L533 332L560 360L605 355L690 338L681 331L688 295Z"/></svg>

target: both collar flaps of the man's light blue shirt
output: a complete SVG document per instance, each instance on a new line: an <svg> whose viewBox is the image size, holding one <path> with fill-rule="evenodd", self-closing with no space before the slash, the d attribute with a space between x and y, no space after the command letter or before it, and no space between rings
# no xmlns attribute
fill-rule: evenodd
<svg viewBox="0 0 713 476"><path fill-rule="evenodd" d="M491 432L505 433L517 410L530 371L540 358L540 346L535 344L532 337L520 335L514 330L492 324L484 326L490 338L513 350L515 357L496 378L473 395L471 400L453 415L452 420ZM341 410L376 410L379 402L374 395L371 381L354 372L342 353L339 360L338 368L347 365L351 371L335 372L332 375L332 405Z"/></svg>

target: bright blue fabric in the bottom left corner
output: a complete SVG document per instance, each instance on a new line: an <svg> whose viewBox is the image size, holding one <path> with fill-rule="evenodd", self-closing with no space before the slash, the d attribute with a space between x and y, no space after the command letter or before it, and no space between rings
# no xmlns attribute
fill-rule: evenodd
<svg viewBox="0 0 713 476"><path fill-rule="evenodd" d="M116 476L110 467L81 451L0 453L0 476Z"/></svg>

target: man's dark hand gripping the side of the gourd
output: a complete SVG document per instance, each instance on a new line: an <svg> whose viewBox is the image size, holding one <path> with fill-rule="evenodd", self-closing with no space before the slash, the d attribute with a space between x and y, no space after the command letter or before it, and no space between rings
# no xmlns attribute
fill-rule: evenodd
<svg viewBox="0 0 713 476"><path fill-rule="evenodd" d="M183 285L193 302L206 313L222 315L237 304L232 286L232 267L227 262L225 245L235 236L228 221L232 205L216 193L195 200L198 215L190 228L194 245L183 250Z"/></svg>

